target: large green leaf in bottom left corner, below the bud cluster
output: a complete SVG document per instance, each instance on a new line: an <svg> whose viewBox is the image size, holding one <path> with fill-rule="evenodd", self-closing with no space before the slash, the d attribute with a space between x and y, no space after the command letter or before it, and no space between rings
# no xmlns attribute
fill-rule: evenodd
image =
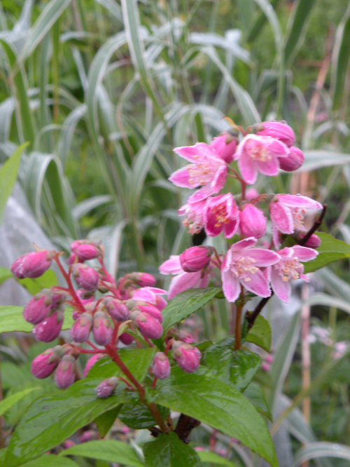
<svg viewBox="0 0 350 467"><path fill-rule="evenodd" d="M130 393L123 385L114 395L99 399L96 387L104 380L84 379L58 395L38 398L28 407L8 445L6 466L16 467L47 452L90 424L100 414L127 402Z"/></svg>

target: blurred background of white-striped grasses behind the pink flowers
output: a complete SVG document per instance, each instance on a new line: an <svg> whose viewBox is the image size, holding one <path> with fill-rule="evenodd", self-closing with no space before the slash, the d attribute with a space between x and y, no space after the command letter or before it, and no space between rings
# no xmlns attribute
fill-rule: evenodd
<svg viewBox="0 0 350 467"><path fill-rule="evenodd" d="M18 190L57 248L102 241L111 273L157 274L190 246L177 215L185 200L167 180L180 167L172 149L230 129L225 116L242 126L288 121L304 150L302 171L260 189L328 203L323 231L350 243L350 3L3 0L0 28L0 161L29 142ZM5 280L10 262L1 266ZM348 275L348 261L324 268L292 306L272 300L265 313L274 357L257 384L274 416L281 466L349 465ZM230 311L218 304L190 325L218 341L230 332ZM27 359L42 351L3 334L6 398L18 381L34 387ZM8 430L37 395L6 412ZM209 436L198 428L196 441ZM222 442L237 465L258 462L235 442L215 440L211 447Z"/></svg>

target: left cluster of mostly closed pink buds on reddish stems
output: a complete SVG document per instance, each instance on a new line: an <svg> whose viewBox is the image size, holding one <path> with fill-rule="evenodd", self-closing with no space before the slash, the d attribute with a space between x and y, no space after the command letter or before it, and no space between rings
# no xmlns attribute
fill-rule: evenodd
<svg viewBox="0 0 350 467"><path fill-rule="evenodd" d="M69 331L71 341L48 348L34 358L32 374L46 378L55 373L57 386L68 388L76 380L76 360L81 353L91 354L84 377L100 358L109 356L129 381L116 377L107 379L97 387L97 396L105 398L111 395L120 379L130 390L135 390L135 385L138 389L138 382L118 357L118 347L120 344L129 345L135 339L139 346L154 346L150 339L162 338L162 310L167 305L163 295L167 295L167 291L155 287L156 280L148 273L129 273L114 280L106 270L104 249L98 243L74 241L68 271L60 261L61 255L54 250L37 249L18 258L11 268L16 278L37 278L54 261L66 280L66 287L55 285L41 290L23 310L25 320L34 325L33 332L39 341L55 340L62 330L64 314L73 309L73 325ZM90 260L98 262L99 266L87 264ZM70 309L66 309L66 305ZM150 368L155 381L169 376L169 356L185 372L194 372L200 365L200 351L188 344L187 339L182 340L181 334L177 340L174 332L170 334L164 338L165 352L155 354Z"/></svg>

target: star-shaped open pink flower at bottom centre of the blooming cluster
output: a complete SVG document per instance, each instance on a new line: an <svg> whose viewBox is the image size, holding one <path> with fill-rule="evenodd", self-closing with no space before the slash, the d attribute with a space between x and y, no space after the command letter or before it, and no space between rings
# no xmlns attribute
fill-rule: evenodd
<svg viewBox="0 0 350 467"><path fill-rule="evenodd" d="M271 266L279 261L279 255L264 248L252 248L256 238L249 237L234 243L226 253L221 268L223 292L228 302L235 302L241 292L241 285L258 295L269 297L269 279L260 267Z"/></svg>

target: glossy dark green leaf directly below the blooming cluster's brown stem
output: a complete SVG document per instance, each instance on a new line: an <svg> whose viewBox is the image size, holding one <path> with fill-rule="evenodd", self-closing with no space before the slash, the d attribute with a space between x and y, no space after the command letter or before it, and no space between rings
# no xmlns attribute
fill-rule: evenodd
<svg viewBox="0 0 350 467"><path fill-rule="evenodd" d="M205 366L224 383L244 391L260 368L261 358L244 348L234 350L235 339L225 339L204 353Z"/></svg>

